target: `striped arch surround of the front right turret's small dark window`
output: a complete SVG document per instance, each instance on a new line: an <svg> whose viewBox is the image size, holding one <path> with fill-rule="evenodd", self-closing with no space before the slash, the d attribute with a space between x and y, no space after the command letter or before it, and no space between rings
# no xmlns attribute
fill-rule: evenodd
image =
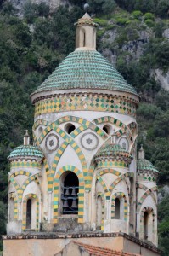
<svg viewBox="0 0 169 256"><path fill-rule="evenodd" d="M115 199L124 199L124 220L127 221L128 207L127 207L127 197L123 192L117 192L112 196L112 205L111 205L111 219L115 218Z"/></svg>

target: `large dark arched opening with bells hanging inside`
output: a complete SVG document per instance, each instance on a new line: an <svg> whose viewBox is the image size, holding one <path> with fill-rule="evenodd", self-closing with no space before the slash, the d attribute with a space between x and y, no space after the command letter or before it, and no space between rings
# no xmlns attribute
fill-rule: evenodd
<svg viewBox="0 0 169 256"><path fill-rule="evenodd" d="M79 180L74 172L65 172L61 181L61 213L78 214Z"/></svg>

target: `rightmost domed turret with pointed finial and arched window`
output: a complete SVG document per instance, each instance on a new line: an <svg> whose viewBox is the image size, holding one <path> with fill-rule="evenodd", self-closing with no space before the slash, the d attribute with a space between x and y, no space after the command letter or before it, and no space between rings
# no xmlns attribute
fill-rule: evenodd
<svg viewBox="0 0 169 256"><path fill-rule="evenodd" d="M159 171L144 159L144 148L138 152L137 161L137 232L139 238L157 244L157 186Z"/></svg>

